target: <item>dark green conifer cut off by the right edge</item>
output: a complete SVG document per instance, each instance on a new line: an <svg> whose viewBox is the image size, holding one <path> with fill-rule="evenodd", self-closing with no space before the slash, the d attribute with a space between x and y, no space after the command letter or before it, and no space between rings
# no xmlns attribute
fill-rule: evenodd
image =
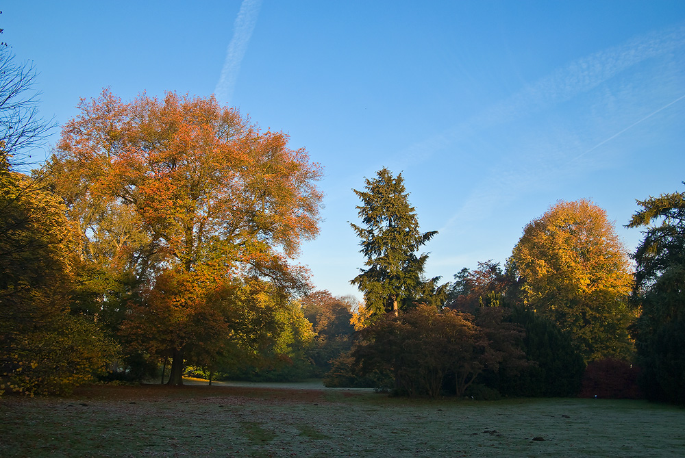
<svg viewBox="0 0 685 458"><path fill-rule="evenodd" d="M685 404L685 192L638 205L628 227L646 227L633 255L640 384L649 398Z"/></svg>

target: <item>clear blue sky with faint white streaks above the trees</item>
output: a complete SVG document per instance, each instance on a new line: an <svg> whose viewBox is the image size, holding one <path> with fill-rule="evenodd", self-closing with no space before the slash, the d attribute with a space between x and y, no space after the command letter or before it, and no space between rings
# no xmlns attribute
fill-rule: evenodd
<svg viewBox="0 0 685 458"><path fill-rule="evenodd" d="M356 294L364 177L402 172L427 275L505 262L556 201L624 229L685 180L684 1L29 1L0 27L46 117L80 97L215 93L325 167L316 288ZM53 136L51 142L56 140ZM36 152L39 156L45 151Z"/></svg>

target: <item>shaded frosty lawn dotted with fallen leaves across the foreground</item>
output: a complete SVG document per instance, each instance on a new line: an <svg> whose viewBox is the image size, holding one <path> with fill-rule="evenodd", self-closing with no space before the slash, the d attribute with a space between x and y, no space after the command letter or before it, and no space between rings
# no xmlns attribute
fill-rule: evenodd
<svg viewBox="0 0 685 458"><path fill-rule="evenodd" d="M685 456L685 410L636 400L392 398L160 385L0 399L2 457Z"/></svg>

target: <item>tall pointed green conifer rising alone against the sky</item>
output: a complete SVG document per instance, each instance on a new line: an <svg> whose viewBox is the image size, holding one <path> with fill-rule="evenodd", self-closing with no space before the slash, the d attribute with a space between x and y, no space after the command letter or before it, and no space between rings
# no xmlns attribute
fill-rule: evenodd
<svg viewBox="0 0 685 458"><path fill-rule="evenodd" d="M434 301L440 277L425 279L427 254L416 255L438 231L421 233L414 207L409 204L402 174L393 176L387 168L375 179L365 179L364 191L353 190L362 200L362 225L350 223L361 239L360 253L366 257L360 274L350 283L364 292L366 306L376 313L399 308L413 300ZM438 294L439 295L439 294Z"/></svg>

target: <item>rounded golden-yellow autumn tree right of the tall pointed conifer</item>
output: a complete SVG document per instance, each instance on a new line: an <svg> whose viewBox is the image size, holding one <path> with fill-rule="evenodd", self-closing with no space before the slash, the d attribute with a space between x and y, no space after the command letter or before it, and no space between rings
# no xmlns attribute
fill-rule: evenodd
<svg viewBox="0 0 685 458"><path fill-rule="evenodd" d="M560 201L525 227L508 270L523 305L570 333L585 361L630 357L630 262L603 209Z"/></svg>

